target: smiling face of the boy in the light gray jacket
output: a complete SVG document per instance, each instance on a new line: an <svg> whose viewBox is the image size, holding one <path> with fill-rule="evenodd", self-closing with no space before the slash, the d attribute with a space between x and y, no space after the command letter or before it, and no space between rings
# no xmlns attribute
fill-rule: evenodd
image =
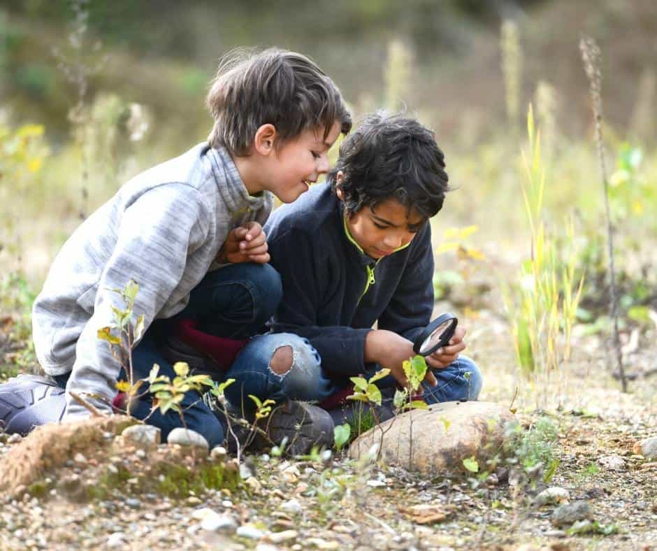
<svg viewBox="0 0 657 551"><path fill-rule="evenodd" d="M324 138L324 128L305 130L299 136L273 147L263 171L262 189L267 189L283 203L291 203L320 175L329 171L329 150L340 134L336 121Z"/></svg>

